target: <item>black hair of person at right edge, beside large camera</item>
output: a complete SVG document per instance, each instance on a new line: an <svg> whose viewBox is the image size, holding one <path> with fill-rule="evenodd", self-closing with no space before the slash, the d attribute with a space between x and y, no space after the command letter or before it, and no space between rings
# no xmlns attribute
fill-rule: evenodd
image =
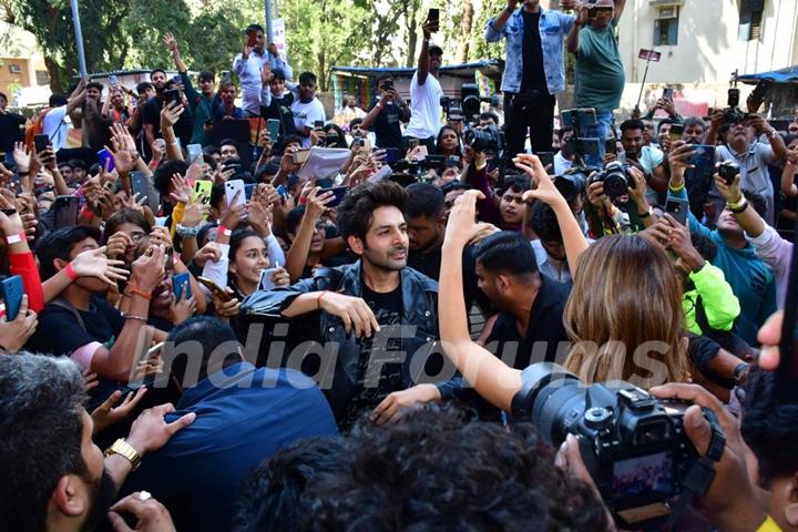
<svg viewBox="0 0 798 532"><path fill-rule="evenodd" d="M759 483L798 472L798 405L776 396L775 374L751 367L745 383L740 432L757 458Z"/></svg>

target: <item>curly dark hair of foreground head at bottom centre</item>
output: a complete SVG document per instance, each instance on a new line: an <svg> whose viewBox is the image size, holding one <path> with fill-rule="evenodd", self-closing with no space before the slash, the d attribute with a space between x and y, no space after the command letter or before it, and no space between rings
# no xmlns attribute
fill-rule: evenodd
<svg viewBox="0 0 798 532"><path fill-rule="evenodd" d="M554 466L554 450L528 423L466 423L452 409L431 407L391 427L361 421L340 458L348 467L308 484L297 530L607 526L598 498Z"/></svg>

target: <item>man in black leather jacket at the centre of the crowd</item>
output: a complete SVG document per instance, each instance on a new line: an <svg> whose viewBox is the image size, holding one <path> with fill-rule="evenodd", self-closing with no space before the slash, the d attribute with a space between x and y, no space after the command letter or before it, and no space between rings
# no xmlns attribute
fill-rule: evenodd
<svg viewBox="0 0 798 532"><path fill-rule="evenodd" d="M360 260L257 291L242 305L249 316L318 316L316 380L341 429L364 412L396 421L403 407L460 389L438 341L438 284L407 267L406 202L395 183L354 188L338 206L338 229Z"/></svg>

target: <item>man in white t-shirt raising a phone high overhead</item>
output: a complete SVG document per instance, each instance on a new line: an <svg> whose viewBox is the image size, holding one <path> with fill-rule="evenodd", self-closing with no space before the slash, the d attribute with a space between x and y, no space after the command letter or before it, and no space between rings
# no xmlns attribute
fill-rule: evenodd
<svg viewBox="0 0 798 532"><path fill-rule="evenodd" d="M419 63L410 81L410 123L405 130L405 143L408 139L418 139L430 153L434 152L434 143L441 127L441 104L443 95L436 78L440 69L443 50L430 43L430 35L438 31L438 22L424 22L423 41L419 53Z"/></svg>

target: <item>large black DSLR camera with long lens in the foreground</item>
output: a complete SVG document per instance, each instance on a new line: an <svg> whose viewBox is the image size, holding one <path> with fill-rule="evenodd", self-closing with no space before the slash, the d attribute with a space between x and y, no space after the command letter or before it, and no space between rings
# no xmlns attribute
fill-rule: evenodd
<svg viewBox="0 0 798 532"><path fill-rule="evenodd" d="M622 528L641 530L678 516L712 483L710 461L719 460L725 439L709 410L704 415L713 441L708 458L699 459L683 428L687 403L658 400L624 381L585 386L551 362L528 367L521 380L513 412L554 447L569 433L579 438L585 467Z"/></svg>

